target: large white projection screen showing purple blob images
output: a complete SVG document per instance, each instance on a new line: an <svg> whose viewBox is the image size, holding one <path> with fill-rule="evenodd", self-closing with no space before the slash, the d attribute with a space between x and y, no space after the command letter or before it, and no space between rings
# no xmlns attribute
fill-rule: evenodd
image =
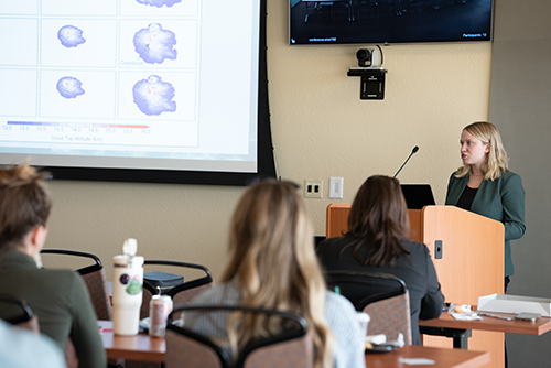
<svg viewBox="0 0 551 368"><path fill-rule="evenodd" d="M0 164L53 177L274 176L266 0L2 1Z"/></svg>

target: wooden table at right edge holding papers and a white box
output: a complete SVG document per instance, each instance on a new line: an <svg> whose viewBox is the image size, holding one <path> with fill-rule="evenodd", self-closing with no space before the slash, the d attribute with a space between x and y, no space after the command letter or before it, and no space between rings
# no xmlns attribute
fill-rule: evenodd
<svg viewBox="0 0 551 368"><path fill-rule="evenodd" d="M473 306L476 311L476 305ZM511 317L510 313L489 312L493 315ZM419 320L421 333L425 335L446 336L453 338L453 346L466 349L471 331L493 331L508 334L523 334L540 336L551 331L551 318L540 317L534 322L530 321L506 321L495 317L482 316L477 321L455 320L447 312L443 312L439 318Z"/></svg>

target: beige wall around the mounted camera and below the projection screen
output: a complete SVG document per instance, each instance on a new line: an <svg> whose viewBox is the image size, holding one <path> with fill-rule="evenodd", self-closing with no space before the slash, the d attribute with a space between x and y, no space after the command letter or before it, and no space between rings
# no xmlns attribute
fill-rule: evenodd
<svg viewBox="0 0 551 368"><path fill-rule="evenodd" d="M324 181L323 199L306 199L316 234L325 230L329 176L344 177L352 202L371 174L430 183L442 204L460 165L462 127L488 118L491 44L383 47L385 100L360 100L350 46L289 46L287 1L268 0L268 78L278 174L300 184ZM364 45L367 46L367 45ZM216 108L216 107L213 107ZM507 143L507 142L506 142ZM244 188L52 182L55 206L46 247L87 250L106 263L128 237L139 253L198 262L215 278L226 255L229 218Z"/></svg>

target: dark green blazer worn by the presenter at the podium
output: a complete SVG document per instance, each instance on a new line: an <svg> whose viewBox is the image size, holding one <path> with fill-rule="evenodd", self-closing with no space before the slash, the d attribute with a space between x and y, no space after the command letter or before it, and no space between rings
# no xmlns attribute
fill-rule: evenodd
<svg viewBox="0 0 551 368"><path fill-rule="evenodd" d="M446 205L456 205L467 186L469 176L457 178L456 173L447 183ZM525 188L519 175L504 172L498 180L484 180L476 191L471 212L504 223L505 226L505 275L514 273L509 241L525 235Z"/></svg>

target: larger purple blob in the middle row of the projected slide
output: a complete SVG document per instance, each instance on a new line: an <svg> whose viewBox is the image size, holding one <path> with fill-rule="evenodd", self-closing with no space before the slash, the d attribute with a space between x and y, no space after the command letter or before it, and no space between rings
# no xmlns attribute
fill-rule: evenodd
<svg viewBox="0 0 551 368"><path fill-rule="evenodd" d="M134 34L134 50L148 64L161 64L164 59L175 59L177 51L174 50L176 36L173 32L163 30L161 24L151 23L147 29L141 29Z"/></svg>

